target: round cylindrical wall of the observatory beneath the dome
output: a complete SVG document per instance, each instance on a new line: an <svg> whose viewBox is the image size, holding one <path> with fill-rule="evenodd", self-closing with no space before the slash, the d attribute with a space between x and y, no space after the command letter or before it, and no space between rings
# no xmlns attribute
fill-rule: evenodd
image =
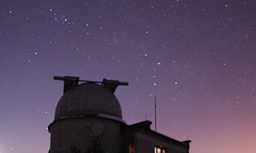
<svg viewBox="0 0 256 153"><path fill-rule="evenodd" d="M69 153L70 146L76 146L82 153L85 152L86 147L95 138L88 126L96 135L102 129L98 136L104 149L109 153L118 153L121 143L120 122L105 118L71 118L54 122L49 127L50 153Z"/></svg>

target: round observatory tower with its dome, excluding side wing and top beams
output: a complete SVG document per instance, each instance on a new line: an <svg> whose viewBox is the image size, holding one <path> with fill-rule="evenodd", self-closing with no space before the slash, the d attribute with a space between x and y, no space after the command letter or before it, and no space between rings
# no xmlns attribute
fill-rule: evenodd
<svg viewBox="0 0 256 153"><path fill-rule="evenodd" d="M108 87L87 82L65 92L57 104L54 121L48 127L51 133L49 153L70 153L73 146L84 153L96 137L106 152L118 152L120 126L125 122L113 88Z"/></svg>

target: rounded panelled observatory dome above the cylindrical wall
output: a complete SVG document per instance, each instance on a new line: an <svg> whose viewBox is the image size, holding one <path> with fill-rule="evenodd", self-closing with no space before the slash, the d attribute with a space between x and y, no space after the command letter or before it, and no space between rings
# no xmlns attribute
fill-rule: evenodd
<svg viewBox="0 0 256 153"><path fill-rule="evenodd" d="M73 87L61 97L54 120L99 114L122 119L122 110L114 94L104 86L89 82Z"/></svg>

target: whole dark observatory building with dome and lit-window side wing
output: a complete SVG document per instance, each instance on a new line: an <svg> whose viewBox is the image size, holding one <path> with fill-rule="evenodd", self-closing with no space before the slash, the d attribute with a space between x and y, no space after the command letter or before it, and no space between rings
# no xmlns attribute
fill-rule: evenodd
<svg viewBox="0 0 256 153"><path fill-rule="evenodd" d="M133 125L123 121L114 92L127 82L83 81L69 76L54 79L64 81L64 94L48 127L49 153L89 153L95 146L98 153L189 153L191 141L157 133L150 129L150 121Z"/></svg>

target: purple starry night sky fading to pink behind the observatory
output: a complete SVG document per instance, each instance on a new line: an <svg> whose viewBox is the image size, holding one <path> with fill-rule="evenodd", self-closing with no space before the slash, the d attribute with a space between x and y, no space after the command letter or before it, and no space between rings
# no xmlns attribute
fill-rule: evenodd
<svg viewBox="0 0 256 153"><path fill-rule="evenodd" d="M127 124L256 152L255 0L0 0L0 153L48 153L63 82L129 82ZM170 150L171 153L171 150Z"/></svg>

